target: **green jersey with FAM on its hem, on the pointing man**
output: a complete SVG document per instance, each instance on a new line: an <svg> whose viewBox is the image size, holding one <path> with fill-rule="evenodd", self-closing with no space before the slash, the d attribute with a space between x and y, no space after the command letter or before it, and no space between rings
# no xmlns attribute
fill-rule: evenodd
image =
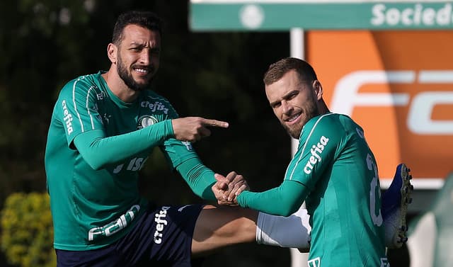
<svg viewBox="0 0 453 267"><path fill-rule="evenodd" d="M102 73L69 81L52 113L45 170L56 249L77 251L111 244L127 234L146 209L147 200L139 196L138 171L155 145L130 145L128 138L147 135L172 167L197 157L190 143L172 138L170 119L178 115L166 98L143 91L136 101L125 103L108 89ZM117 142L103 151L108 164L93 169L74 147L74 138L91 133L121 135L129 143Z"/></svg>

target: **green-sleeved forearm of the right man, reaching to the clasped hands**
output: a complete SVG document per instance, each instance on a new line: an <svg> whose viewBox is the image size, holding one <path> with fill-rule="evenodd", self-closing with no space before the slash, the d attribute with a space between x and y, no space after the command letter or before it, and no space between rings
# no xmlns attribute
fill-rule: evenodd
<svg viewBox="0 0 453 267"><path fill-rule="evenodd" d="M241 207L259 210L272 215L289 216L296 212L305 200L306 187L297 181L285 180L277 187L256 193L243 191L237 200Z"/></svg>

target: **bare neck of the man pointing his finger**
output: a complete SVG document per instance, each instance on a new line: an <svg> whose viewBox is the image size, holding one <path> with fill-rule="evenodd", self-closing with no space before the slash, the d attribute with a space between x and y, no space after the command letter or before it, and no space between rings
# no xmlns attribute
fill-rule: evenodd
<svg viewBox="0 0 453 267"><path fill-rule="evenodd" d="M140 92L130 89L125 82L118 75L116 65L111 64L108 72L102 74L103 78L107 82L108 88L112 91L115 96L120 98L126 103L132 103L137 99Z"/></svg>

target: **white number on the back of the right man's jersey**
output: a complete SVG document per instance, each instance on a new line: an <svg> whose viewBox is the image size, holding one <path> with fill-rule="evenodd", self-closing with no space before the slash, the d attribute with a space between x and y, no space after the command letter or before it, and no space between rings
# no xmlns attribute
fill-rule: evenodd
<svg viewBox="0 0 453 267"><path fill-rule="evenodd" d="M377 181L377 166L370 154L367 154L367 166L369 171L372 171L373 178L369 184L369 210L374 225L382 225L382 214L381 209L377 206L379 199L381 198L381 188Z"/></svg>

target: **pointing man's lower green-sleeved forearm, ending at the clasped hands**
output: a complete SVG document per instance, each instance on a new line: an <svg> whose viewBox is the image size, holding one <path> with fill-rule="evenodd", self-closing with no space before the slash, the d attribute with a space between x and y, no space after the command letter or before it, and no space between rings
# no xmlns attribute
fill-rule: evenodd
<svg viewBox="0 0 453 267"><path fill-rule="evenodd" d="M214 171L203 165L198 157L183 161L176 170L188 183L193 193L206 200L216 200L211 187L216 182Z"/></svg>

